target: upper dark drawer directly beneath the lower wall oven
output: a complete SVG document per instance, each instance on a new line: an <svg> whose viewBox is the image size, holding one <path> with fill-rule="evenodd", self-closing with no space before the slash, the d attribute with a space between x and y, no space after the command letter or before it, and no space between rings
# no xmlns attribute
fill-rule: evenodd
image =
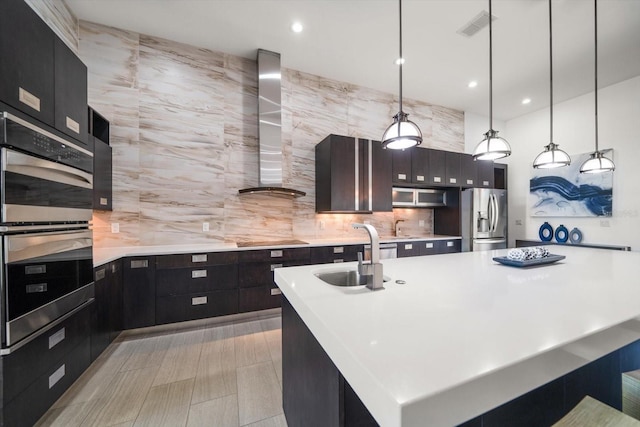
<svg viewBox="0 0 640 427"><path fill-rule="evenodd" d="M24 347L2 358L2 398L5 402L22 393L28 384L50 370L80 342L89 338L92 307L93 304L85 307Z"/></svg>

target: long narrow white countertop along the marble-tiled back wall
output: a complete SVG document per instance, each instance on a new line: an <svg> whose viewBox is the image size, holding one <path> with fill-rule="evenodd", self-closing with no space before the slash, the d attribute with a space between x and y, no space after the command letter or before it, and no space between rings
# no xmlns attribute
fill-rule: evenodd
<svg viewBox="0 0 640 427"><path fill-rule="evenodd" d="M460 236L443 236L439 234L429 234L424 236L400 236L400 237L381 237L381 243L387 242L404 242L404 241L421 241L421 240L448 240L460 239ZM236 243L206 243L206 244L181 244L181 245L157 245L157 246L118 246L111 248L100 248L93 250L93 264L99 266L118 258L126 256L150 256L150 255L171 255L184 253L199 252L224 252L224 251L248 251L269 248L295 248L295 247L312 247L312 246L332 246L332 245L359 245L369 243L366 234L358 238L331 238L331 239L307 239L303 244L288 245L266 245L266 246L247 246L238 247Z"/></svg>

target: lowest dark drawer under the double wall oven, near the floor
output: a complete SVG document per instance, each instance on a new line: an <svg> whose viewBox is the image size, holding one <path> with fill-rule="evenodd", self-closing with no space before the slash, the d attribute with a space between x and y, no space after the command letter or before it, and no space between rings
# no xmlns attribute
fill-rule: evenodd
<svg viewBox="0 0 640 427"><path fill-rule="evenodd" d="M46 370L22 393L4 403L4 424L30 427L80 377L90 362L90 339L87 336L71 352Z"/></svg>

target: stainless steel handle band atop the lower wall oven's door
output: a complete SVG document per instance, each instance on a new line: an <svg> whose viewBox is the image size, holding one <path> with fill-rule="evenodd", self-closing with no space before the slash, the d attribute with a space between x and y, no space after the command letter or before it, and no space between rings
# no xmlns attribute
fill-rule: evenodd
<svg viewBox="0 0 640 427"><path fill-rule="evenodd" d="M63 253L93 245L91 230L5 236L7 262Z"/></svg>

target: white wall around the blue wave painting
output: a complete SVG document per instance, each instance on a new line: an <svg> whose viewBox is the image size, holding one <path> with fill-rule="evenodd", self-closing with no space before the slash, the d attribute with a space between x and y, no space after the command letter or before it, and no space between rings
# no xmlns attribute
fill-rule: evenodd
<svg viewBox="0 0 640 427"><path fill-rule="evenodd" d="M583 243L628 245L640 251L640 76L598 92L599 145L613 148L613 216L610 218L533 218L528 194L533 159L549 142L549 109L536 111L506 123L511 144L509 164L509 246L515 239L538 239L538 228L548 221L554 228L578 227ZM472 136L467 128L478 126L478 117L465 123L467 152ZM591 152L595 144L593 93L554 106L554 142L570 155ZM486 125L485 125L486 127ZM474 133L477 133L474 131ZM521 221L522 225L516 225Z"/></svg>

